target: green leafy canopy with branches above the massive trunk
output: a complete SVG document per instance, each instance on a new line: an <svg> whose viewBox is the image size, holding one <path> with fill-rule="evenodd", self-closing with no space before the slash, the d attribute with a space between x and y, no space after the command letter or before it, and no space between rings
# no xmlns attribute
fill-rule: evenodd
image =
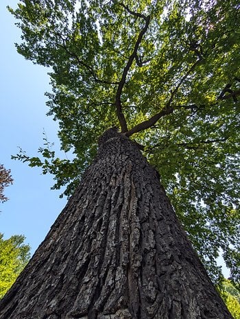
<svg viewBox="0 0 240 319"><path fill-rule="evenodd" d="M239 1L23 0L10 9L17 50L49 67L49 141L43 168L70 195L112 126L135 139L160 173L176 213L213 279L219 248L239 281Z"/></svg>

